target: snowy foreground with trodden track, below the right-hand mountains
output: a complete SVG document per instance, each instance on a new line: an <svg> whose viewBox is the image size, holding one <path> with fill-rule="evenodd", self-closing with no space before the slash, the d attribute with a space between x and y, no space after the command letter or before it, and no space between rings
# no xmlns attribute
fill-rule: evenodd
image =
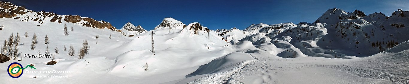
<svg viewBox="0 0 409 84"><path fill-rule="evenodd" d="M409 41L406 41L381 53L360 59L248 58L249 60L232 64L229 68L209 69L218 70L212 74L189 76L176 84L407 84L408 43ZM246 56L234 54L236 57ZM218 62L221 59L226 61ZM209 64L223 65L224 62L234 61L225 56ZM207 68L209 65L202 66ZM198 70L203 71L202 68Z"/></svg>

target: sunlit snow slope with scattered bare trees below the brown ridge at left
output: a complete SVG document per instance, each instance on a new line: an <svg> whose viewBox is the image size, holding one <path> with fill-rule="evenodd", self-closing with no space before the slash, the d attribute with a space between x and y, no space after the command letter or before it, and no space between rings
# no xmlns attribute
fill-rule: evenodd
<svg viewBox="0 0 409 84"><path fill-rule="evenodd" d="M49 46L51 53L54 52L55 47L59 49L60 54L57 54L56 58L77 58L77 56L69 56L67 51L69 50L70 45L74 46L74 49L78 51L84 40L88 40L89 45L92 48L90 49L90 55L101 55L99 53L108 53L111 46L116 46L116 44L114 44L116 40L130 39L121 35L121 33L111 31L109 29L83 27L82 25L73 24L70 22L66 22L68 27L68 35L64 34L64 24L54 22L45 21L43 22L42 26L36 26L37 22L26 22L13 18L0 18L0 24L4 26L4 29L0 31L0 40L2 40L1 44L3 44L4 40L8 39L9 36L19 33L21 42L20 46L18 47L22 53L20 57L23 57L25 53L45 53L46 47ZM72 27L74 31L71 31L70 27ZM27 32L27 38L24 36L25 32ZM31 50L30 45L34 33L37 36L38 44L35 46L34 50ZM49 38L49 44L45 44L45 35L47 35ZM99 36L98 39L96 39L97 35ZM109 38L110 35L112 35L112 39ZM67 47L67 51L63 50L64 45ZM112 54L119 55L121 53ZM38 63L50 59L27 59L23 57L22 60L25 60L26 62Z"/></svg>

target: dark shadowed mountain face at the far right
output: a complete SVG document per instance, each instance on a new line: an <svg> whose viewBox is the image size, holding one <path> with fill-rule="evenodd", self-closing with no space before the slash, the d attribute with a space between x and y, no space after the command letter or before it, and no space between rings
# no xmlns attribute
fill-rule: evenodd
<svg viewBox="0 0 409 84"><path fill-rule="evenodd" d="M355 12L357 11L353 13ZM358 18L346 18L340 20L337 24L326 24L325 27L328 29L328 34L324 36L322 40L325 39L331 41L331 44L342 46L329 45L326 44L329 42L325 41L319 41L318 43L323 44L323 46L357 51L355 52L356 56L373 55L385 51L401 42L409 40L408 38L404 38L408 33L402 32L408 31L404 26L405 24L409 24L409 22L407 22L408 18L398 14L404 15L405 13L398 9L393 15L386 17L382 13L373 13L366 16L362 12L361 15L357 15ZM362 16L364 17L361 18ZM325 23L325 21L323 23ZM344 54L354 55L354 53Z"/></svg>

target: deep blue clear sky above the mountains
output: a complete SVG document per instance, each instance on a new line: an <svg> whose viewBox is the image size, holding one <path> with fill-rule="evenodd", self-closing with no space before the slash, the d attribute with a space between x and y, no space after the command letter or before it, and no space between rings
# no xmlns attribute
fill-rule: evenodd
<svg viewBox="0 0 409 84"><path fill-rule="evenodd" d="M245 29L251 24L314 22L326 10L355 9L366 15L408 10L407 0L1 0L33 11L80 15L110 22L120 29L126 22L151 30L163 18L189 24L199 22L209 29Z"/></svg>

